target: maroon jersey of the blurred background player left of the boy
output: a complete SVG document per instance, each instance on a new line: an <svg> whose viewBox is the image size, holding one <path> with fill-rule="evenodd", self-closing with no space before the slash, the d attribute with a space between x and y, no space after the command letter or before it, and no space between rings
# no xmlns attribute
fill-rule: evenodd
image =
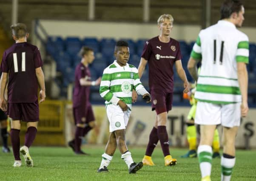
<svg viewBox="0 0 256 181"><path fill-rule="evenodd" d="M82 63L78 64L75 70L75 85L73 93L73 107L78 106L88 106L90 104L90 86L81 86L80 78L87 78L88 81L91 81L91 72L87 67Z"/></svg>

